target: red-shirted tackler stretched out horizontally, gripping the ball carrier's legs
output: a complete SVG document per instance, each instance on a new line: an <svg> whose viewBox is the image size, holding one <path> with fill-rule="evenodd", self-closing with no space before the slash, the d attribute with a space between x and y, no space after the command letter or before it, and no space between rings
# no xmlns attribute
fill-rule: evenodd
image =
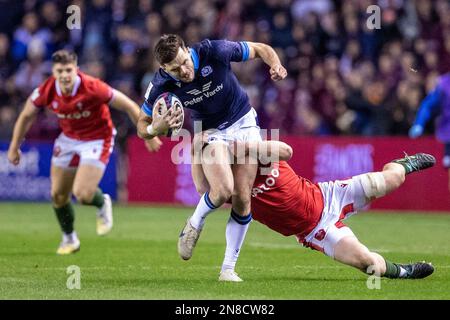
<svg viewBox="0 0 450 320"><path fill-rule="evenodd" d="M195 143L198 143L198 140ZM258 154L261 159L260 150L268 150L264 159L270 158L273 152L280 159L265 167L268 174L262 174L265 173L261 171L263 166L258 170L252 190L253 219L284 236L295 235L305 247L321 251L368 274L374 273L387 278L418 279L433 273L434 268L429 263L399 264L386 260L359 242L352 230L342 222L372 200L396 190L403 184L406 175L432 167L436 162L433 156L418 153L393 160L384 165L380 172L315 184L297 176L284 161L292 156L291 147L285 143L238 142L233 147L234 154L238 154L236 147L245 148L242 154ZM194 159L198 156L194 155ZM262 162L267 163L267 160ZM197 190L204 193L209 186L202 166L198 163L193 162L192 175ZM224 260L219 280L242 281L234 271L236 261L237 257L230 267L230 263Z"/></svg>

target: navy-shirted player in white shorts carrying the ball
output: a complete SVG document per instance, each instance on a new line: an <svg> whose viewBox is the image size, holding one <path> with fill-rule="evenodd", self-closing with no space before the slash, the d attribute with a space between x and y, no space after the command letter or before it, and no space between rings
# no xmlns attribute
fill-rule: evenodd
<svg viewBox="0 0 450 320"><path fill-rule="evenodd" d="M169 109L161 126L152 123L165 92L178 96L183 106L192 109L195 122L201 130L216 129L208 143L217 161L207 161L203 166L211 188L205 192L194 214L188 219L180 234L178 252L188 260L200 236L206 216L232 198L231 218L227 224L226 238L230 261L239 254L240 247L251 221L250 194L256 176L256 164L230 166L227 155L229 141L261 141L256 112L249 98L231 70L232 61L261 58L270 67L274 81L287 75L275 51L268 45L252 42L203 40L192 48L177 35L164 35L155 47L155 57L161 68L149 84L138 122L138 134L143 139L161 135L169 126L176 127L180 119ZM158 101L156 101L158 100ZM156 102L156 105L155 105ZM170 114L171 113L171 114ZM169 119L169 117L172 118ZM196 128L198 131L198 128ZM214 162L214 163L213 163Z"/></svg>

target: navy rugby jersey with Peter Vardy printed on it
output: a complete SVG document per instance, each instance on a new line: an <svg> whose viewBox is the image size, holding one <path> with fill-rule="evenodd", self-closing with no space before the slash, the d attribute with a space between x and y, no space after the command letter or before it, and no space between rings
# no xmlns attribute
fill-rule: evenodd
<svg viewBox="0 0 450 320"><path fill-rule="evenodd" d="M153 104L163 92L172 92L192 110L192 120L202 121L202 129L224 129L251 109L249 99L231 70L230 62L246 61L246 42L203 40L190 48L195 76L191 83L173 78L161 68L150 82L142 105L152 116Z"/></svg>

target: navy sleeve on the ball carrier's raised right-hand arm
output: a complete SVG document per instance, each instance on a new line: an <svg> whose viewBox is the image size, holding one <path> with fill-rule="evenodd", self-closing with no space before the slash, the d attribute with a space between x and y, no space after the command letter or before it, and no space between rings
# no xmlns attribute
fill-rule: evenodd
<svg viewBox="0 0 450 320"><path fill-rule="evenodd" d="M250 48L245 41L212 40L209 42L210 54L225 63L246 61L250 56Z"/></svg>

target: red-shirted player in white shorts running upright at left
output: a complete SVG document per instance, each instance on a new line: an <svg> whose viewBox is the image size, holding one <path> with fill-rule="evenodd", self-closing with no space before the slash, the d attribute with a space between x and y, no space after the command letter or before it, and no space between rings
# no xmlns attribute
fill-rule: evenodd
<svg viewBox="0 0 450 320"><path fill-rule="evenodd" d="M52 55L52 76L36 88L25 103L14 126L8 160L18 165L20 145L42 108L53 111L62 133L55 140L51 160L51 198L63 232L57 254L80 249L74 230L71 193L78 202L95 206L97 234L107 234L113 226L112 203L98 184L113 150L115 129L108 105L128 114L136 123L139 106L106 83L78 71L75 53L60 50ZM146 142L147 149L159 149L158 138Z"/></svg>

